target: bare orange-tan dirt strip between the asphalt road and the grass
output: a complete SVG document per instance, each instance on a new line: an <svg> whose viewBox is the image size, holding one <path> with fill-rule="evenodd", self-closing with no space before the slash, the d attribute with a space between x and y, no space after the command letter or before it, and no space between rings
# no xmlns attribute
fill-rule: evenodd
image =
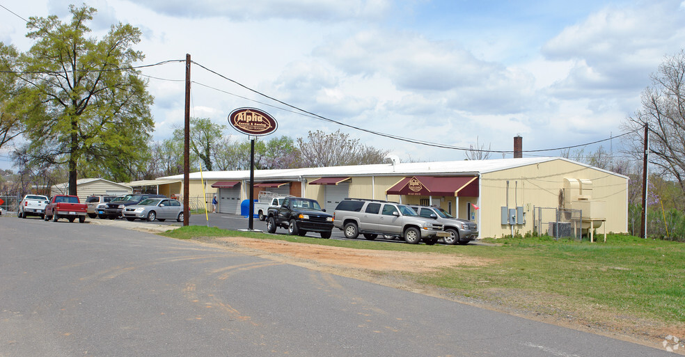
<svg viewBox="0 0 685 357"><path fill-rule="evenodd" d="M685 346L666 340L666 336L685 337L683 324L664 324L618 312L601 306L587 306L582 302L569 302L563 296L519 289L487 289L482 296L462 296L448 289L421 285L409 273L437 271L446 267L469 269L496 260L460 257L441 253L413 253L404 251L372 251L366 249L318 246L271 239L222 237L198 239L204 244L230 246L231 250L258 255L270 260L326 271L372 283L395 287L449 299L459 303L506 312L511 315L556 324L581 331L606 335L611 338L666 349L685 355ZM667 343L668 342L668 343ZM666 346L668 344L668 346Z"/></svg>

